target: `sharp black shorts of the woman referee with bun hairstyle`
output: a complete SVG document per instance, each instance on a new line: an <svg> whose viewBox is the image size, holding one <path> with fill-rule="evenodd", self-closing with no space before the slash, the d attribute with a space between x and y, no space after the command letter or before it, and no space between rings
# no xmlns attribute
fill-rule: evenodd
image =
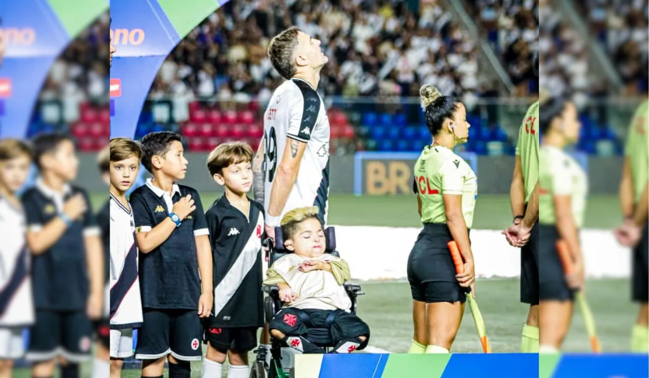
<svg viewBox="0 0 649 378"><path fill-rule="evenodd" d="M461 302L471 289L459 286L447 243L453 240L448 226L425 223L408 257L408 282L412 299L426 303Z"/></svg>

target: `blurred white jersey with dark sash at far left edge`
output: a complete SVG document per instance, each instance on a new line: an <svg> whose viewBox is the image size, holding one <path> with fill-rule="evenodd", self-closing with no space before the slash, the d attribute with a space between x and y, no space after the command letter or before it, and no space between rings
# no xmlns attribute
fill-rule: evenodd
<svg viewBox="0 0 649 378"><path fill-rule="evenodd" d="M0 327L34 323L25 227L23 209L0 197Z"/></svg>

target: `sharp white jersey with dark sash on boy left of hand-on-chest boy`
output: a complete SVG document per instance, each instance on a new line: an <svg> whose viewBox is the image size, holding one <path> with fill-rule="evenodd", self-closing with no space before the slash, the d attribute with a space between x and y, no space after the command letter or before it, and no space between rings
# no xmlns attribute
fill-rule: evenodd
<svg viewBox="0 0 649 378"><path fill-rule="evenodd" d="M138 246L133 212L110 195L110 328L142 324Z"/></svg>

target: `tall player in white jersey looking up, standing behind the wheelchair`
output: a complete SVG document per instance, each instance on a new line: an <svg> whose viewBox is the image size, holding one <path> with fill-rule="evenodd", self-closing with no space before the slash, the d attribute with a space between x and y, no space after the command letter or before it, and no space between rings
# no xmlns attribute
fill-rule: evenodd
<svg viewBox="0 0 649 378"><path fill-rule="evenodd" d="M330 129L323 100L315 91L328 58L319 40L296 27L271 40L268 56L286 81L273 93L263 116L263 140L252 169L254 199L260 201L263 192L265 232L275 238L275 227L293 208L315 205L320 221L327 222ZM263 351L269 350L267 327L260 344ZM270 354L266 356L268 363Z"/></svg>

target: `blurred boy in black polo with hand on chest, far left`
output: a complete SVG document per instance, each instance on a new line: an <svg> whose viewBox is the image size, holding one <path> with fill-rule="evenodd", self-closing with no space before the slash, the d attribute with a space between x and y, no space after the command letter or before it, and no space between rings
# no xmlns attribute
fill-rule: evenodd
<svg viewBox="0 0 649 378"><path fill-rule="evenodd" d="M79 362L90 358L90 320L104 307L99 228L86 191L69 184L79 167L73 142L42 134L33 145L40 177L22 199L36 306L27 359L32 377L52 377L56 357L66 360L62 378L79 377Z"/></svg>

